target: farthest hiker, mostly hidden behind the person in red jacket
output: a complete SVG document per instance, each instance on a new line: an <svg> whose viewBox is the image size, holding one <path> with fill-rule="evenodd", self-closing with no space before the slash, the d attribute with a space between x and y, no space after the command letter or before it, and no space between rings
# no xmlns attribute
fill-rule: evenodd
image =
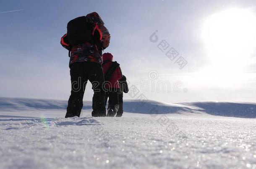
<svg viewBox="0 0 256 169"><path fill-rule="evenodd" d="M118 82L119 82L119 87L120 87L118 90L119 108L118 108L116 117L122 117L123 116L123 92L128 93L129 89L128 89L126 77L124 75Z"/></svg>

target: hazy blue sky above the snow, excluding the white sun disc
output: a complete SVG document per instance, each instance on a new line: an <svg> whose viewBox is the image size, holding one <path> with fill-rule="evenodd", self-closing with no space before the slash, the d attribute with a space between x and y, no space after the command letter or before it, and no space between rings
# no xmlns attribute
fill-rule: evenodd
<svg viewBox="0 0 256 169"><path fill-rule="evenodd" d="M212 58L201 37L205 20L210 16L233 8L254 14L255 5L253 0L1 1L0 96L68 99L69 58L60 38L69 20L96 11L111 34L110 47L104 52L114 55L123 74L136 83L139 94L146 98L170 103L256 102L254 48L250 48L252 52L248 55L236 58L237 62L250 60L243 70L238 72L234 68L237 63L231 63L234 65L222 69L215 65L209 73L205 68L211 67ZM8 12L12 10L19 11ZM155 30L159 41L152 43L149 37ZM184 68L180 69L157 47L161 40L175 48L178 57L185 58L188 63ZM213 71L216 69L218 73ZM157 73L157 79L149 78L152 72ZM140 88L141 79L149 82L149 90ZM172 87L180 82L181 92L156 91L161 81L170 82ZM84 100L91 97L91 87L87 86ZM125 94L125 99L135 98Z"/></svg>

